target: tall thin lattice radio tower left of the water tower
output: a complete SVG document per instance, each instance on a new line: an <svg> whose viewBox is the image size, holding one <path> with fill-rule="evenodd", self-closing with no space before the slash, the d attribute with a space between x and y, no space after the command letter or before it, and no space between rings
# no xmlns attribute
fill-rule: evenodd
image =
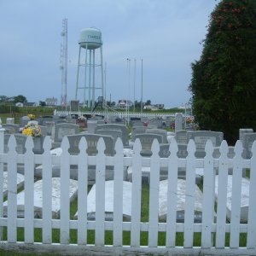
<svg viewBox="0 0 256 256"><path fill-rule="evenodd" d="M67 107L67 18L62 20L61 37L61 106Z"/></svg>

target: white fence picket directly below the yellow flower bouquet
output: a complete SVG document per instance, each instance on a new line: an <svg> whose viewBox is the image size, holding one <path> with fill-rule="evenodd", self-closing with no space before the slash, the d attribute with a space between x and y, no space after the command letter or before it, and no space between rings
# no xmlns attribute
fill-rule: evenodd
<svg viewBox="0 0 256 256"><path fill-rule="evenodd" d="M34 241L34 157L32 148L34 143L32 137L26 138L26 153L24 155L25 165L25 242Z"/></svg>

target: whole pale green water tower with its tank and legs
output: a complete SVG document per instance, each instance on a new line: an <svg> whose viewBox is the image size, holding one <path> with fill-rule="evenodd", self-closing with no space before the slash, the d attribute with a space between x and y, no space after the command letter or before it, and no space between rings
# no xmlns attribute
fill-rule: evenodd
<svg viewBox="0 0 256 256"><path fill-rule="evenodd" d="M84 106L89 108L94 108L96 98L103 96L102 61L102 32L94 27L81 30L76 100L79 100L78 91L82 89Z"/></svg>

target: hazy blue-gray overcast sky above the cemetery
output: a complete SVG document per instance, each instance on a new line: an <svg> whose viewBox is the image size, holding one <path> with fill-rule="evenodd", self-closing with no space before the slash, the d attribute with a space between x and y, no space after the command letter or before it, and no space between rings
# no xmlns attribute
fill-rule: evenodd
<svg viewBox="0 0 256 256"><path fill-rule="evenodd" d="M0 0L0 95L21 94L29 102L54 96L60 102L61 31L62 19L67 18L68 101L75 97L79 33L94 26L102 31L108 100L111 95L115 102L133 101L134 81L135 99L141 100L143 59L143 102L181 106L189 101L191 62L200 58L200 42L218 2Z"/></svg>

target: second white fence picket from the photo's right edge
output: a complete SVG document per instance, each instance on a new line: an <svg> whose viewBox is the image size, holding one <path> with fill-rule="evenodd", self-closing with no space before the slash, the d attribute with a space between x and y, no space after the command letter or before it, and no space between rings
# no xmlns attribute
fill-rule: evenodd
<svg viewBox="0 0 256 256"><path fill-rule="evenodd" d="M242 146L241 141L236 142L235 158L232 177L232 199L230 219L230 247L239 247L240 237L240 214L241 214L241 175L242 175Z"/></svg>

